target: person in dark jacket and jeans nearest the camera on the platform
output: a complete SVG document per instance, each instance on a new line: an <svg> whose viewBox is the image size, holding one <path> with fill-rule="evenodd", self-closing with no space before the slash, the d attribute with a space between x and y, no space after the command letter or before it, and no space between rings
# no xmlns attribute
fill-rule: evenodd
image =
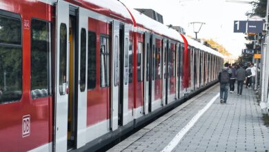
<svg viewBox="0 0 269 152"><path fill-rule="evenodd" d="M219 83L220 83L220 98L221 98L221 104L227 103L228 98L228 89L230 86L230 77L232 76L232 70L229 67L229 64L224 64L224 68L221 69L221 72L219 72Z"/></svg>

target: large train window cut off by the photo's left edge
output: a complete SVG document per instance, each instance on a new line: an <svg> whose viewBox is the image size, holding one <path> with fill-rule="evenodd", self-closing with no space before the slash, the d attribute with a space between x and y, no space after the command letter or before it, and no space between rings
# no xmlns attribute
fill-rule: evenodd
<svg viewBox="0 0 269 152"><path fill-rule="evenodd" d="M22 95L21 19L0 12L0 104L15 102Z"/></svg>

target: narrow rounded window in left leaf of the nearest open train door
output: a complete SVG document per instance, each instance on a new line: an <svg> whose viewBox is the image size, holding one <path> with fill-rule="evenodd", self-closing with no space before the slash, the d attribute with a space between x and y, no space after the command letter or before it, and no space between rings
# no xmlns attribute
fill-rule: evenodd
<svg viewBox="0 0 269 152"><path fill-rule="evenodd" d="M66 88L66 46L67 43L67 28L65 23L60 25L60 67L59 67L59 92L60 95L66 95L66 91L63 91Z"/></svg>

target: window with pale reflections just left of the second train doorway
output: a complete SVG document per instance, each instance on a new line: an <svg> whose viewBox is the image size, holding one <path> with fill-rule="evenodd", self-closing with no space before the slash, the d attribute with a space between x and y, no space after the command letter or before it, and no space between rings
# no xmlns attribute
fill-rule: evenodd
<svg viewBox="0 0 269 152"><path fill-rule="evenodd" d="M107 87L109 84L109 44L108 37L101 36L100 38L100 86Z"/></svg>

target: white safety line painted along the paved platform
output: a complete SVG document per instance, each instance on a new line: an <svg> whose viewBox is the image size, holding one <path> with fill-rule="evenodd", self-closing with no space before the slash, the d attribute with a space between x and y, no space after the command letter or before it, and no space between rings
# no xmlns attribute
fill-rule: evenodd
<svg viewBox="0 0 269 152"><path fill-rule="evenodd" d="M206 104L205 107L203 107L200 111L198 111L198 113L194 117L192 117L192 120L190 120L190 122L188 122L188 124L186 126L184 126L184 128L181 129L181 131L179 131L179 133L177 133L177 135L171 140L171 142L168 144L168 146L166 146L161 152L168 152L168 151L172 151L173 149L175 149L175 147L177 146L177 144L179 144L182 137L190 130L190 128L192 128L193 125L195 125L195 123L197 122L199 117L201 117L201 115L203 115L203 113L205 113L208 110L208 108L210 108L210 106L215 102L215 100L218 97L219 97L219 93L217 95L215 95L215 97L213 97L210 100L210 102L208 102L208 104Z"/></svg>

